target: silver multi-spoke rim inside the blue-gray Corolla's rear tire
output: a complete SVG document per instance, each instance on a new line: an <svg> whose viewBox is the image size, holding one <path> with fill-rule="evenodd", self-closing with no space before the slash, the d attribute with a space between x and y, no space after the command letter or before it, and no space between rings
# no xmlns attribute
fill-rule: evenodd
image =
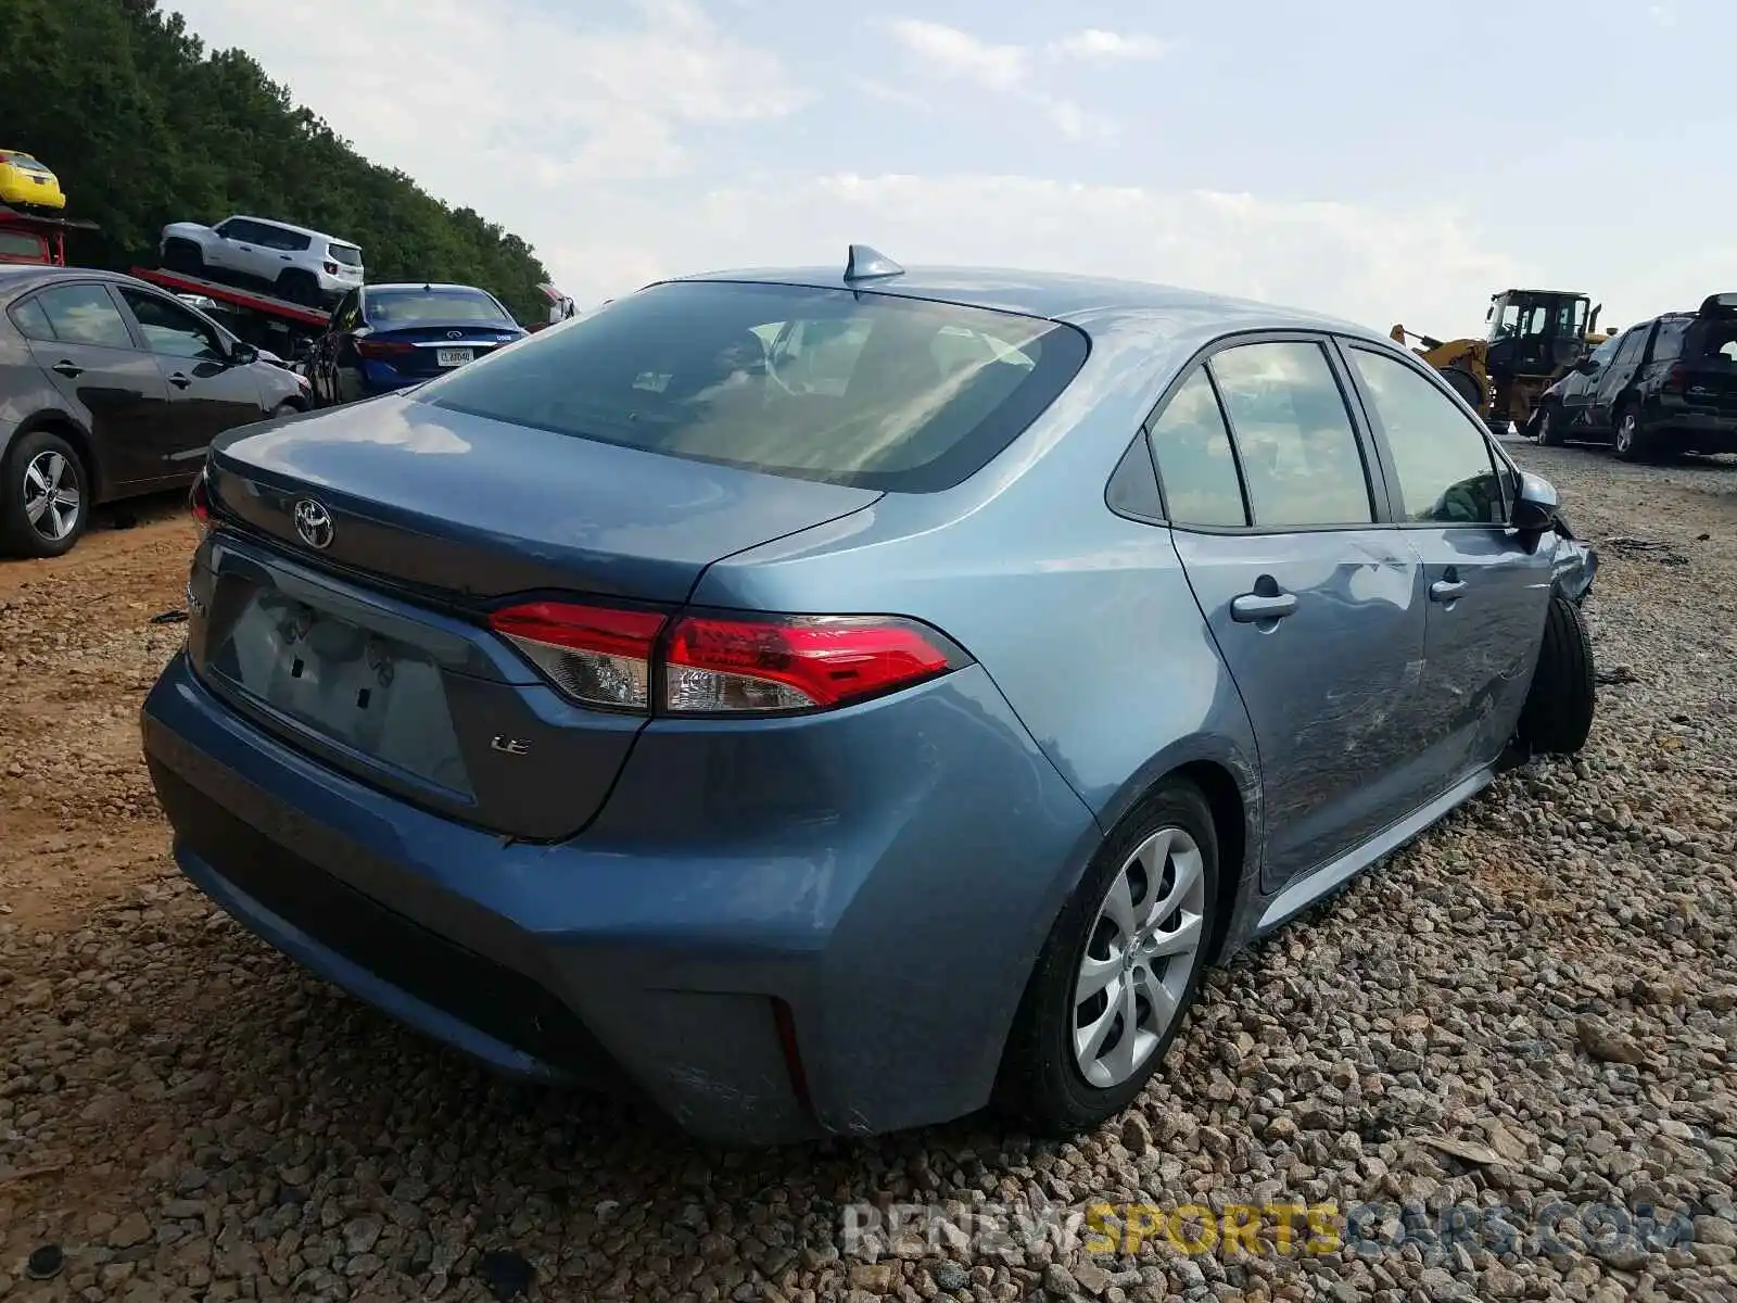
<svg viewBox="0 0 1737 1303"><path fill-rule="evenodd" d="M1199 962L1205 862L1186 830L1153 832L1110 881L1073 989L1073 1058L1100 1089L1145 1065Z"/></svg>

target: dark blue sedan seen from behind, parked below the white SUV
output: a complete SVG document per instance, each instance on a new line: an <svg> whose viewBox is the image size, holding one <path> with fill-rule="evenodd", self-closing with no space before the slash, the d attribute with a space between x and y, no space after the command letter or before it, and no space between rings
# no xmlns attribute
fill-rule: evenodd
<svg viewBox="0 0 1737 1303"><path fill-rule="evenodd" d="M353 403L445 375L526 334L474 285L365 285L332 311L307 372L318 403Z"/></svg>

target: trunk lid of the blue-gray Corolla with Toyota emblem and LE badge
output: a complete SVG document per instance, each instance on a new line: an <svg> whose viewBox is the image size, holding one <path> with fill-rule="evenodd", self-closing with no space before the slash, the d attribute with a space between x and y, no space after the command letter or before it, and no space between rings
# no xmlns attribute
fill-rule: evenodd
<svg viewBox="0 0 1737 1303"><path fill-rule="evenodd" d="M879 493L617 448L410 398L234 431L189 585L201 679L375 787L525 839L578 832L644 716L556 691L485 615L679 606L709 563Z"/></svg>

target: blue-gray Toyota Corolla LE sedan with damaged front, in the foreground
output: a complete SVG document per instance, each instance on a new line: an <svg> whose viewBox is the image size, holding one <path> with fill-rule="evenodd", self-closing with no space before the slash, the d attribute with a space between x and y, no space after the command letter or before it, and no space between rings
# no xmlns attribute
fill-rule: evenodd
<svg viewBox="0 0 1737 1303"><path fill-rule="evenodd" d="M717 1141L1091 1128L1207 964L1593 719L1551 486L1383 335L1174 288L660 283L193 509L188 877Z"/></svg>

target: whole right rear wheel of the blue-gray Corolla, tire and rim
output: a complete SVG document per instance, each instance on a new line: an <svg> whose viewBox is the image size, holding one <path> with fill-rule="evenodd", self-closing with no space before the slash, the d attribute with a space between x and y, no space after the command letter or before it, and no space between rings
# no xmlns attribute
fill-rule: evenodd
<svg viewBox="0 0 1737 1303"><path fill-rule="evenodd" d="M1200 989L1218 872L1193 784L1162 784L1117 825L1032 971L997 1082L1004 1112L1070 1136L1133 1103Z"/></svg>

